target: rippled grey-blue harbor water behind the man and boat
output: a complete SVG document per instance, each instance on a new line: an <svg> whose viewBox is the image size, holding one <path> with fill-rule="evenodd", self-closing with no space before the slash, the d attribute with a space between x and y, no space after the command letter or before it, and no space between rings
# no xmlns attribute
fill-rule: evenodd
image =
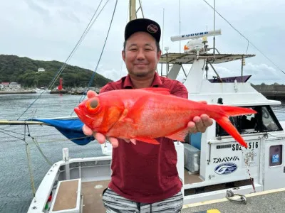
<svg viewBox="0 0 285 213"><path fill-rule="evenodd" d="M75 116L73 113L81 96L47 94L42 96L27 110L39 94L0 95L0 120L21 120L27 118L53 118ZM285 99L281 105L272 107L280 121L285 120ZM21 116L21 114L25 114ZM21 118L19 118L21 116ZM27 212L33 197L31 178L28 172L26 148L31 157L33 184L37 189L51 165L62 159L62 149L69 148L71 158L103 155L95 141L86 146L78 146L66 140L50 126L0 126L0 212ZM25 138L25 140L24 140ZM34 141L38 142L43 158Z"/></svg>

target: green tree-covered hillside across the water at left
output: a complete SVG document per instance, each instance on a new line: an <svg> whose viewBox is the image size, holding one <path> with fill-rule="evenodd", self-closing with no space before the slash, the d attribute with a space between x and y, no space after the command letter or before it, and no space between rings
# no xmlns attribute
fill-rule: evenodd
<svg viewBox="0 0 285 213"><path fill-rule="evenodd" d="M0 83L18 82L22 87L48 87L56 72L63 62L32 60L16 55L0 55ZM44 68L45 72L38 72ZM63 78L63 87L86 87L93 71L77 66L66 65L60 77ZM111 80L95 74L95 79L90 87L103 87ZM54 87L58 85L57 80Z"/></svg>

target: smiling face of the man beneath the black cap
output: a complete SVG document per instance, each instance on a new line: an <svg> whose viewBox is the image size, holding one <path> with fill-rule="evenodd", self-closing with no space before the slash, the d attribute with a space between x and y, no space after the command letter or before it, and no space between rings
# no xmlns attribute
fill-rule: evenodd
<svg viewBox="0 0 285 213"><path fill-rule="evenodd" d="M128 38L123 60L131 77L151 77L155 74L161 51L157 52L155 38L145 32L137 32Z"/></svg>

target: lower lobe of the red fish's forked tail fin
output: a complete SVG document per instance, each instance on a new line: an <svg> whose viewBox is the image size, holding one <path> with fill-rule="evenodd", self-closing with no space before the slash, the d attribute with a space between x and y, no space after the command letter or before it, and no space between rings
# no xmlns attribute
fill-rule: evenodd
<svg viewBox="0 0 285 213"><path fill-rule="evenodd" d="M226 116L223 116L222 119L215 119L219 126L222 126L222 129L227 131L237 142L242 146L247 148L247 143L245 143L244 138L240 135L239 131L232 125L231 121Z"/></svg>

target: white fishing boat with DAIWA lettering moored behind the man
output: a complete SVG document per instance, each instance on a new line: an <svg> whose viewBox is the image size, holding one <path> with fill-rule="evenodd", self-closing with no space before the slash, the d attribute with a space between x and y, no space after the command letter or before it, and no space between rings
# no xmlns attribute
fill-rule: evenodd
<svg viewBox="0 0 285 213"><path fill-rule="evenodd" d="M202 34L196 36L196 42L199 43ZM199 45L188 53L163 54L160 63L167 65L167 77L176 79L178 73L184 71L182 65L192 65L184 82L189 99L250 107L258 114L230 119L247 142L247 149L216 122L205 133L191 134L186 143L174 142L184 204L284 188L285 122L279 121L271 109L281 102L266 99L248 82L212 83L204 77L209 66L233 60L243 63L245 58L254 55L209 53L211 48L205 39ZM68 149L64 148L63 160L54 163L46 173L28 213L105 212L102 192L112 173L110 143L102 145L102 151L106 156L70 158ZM244 196L239 198L241 202L244 199Z"/></svg>

